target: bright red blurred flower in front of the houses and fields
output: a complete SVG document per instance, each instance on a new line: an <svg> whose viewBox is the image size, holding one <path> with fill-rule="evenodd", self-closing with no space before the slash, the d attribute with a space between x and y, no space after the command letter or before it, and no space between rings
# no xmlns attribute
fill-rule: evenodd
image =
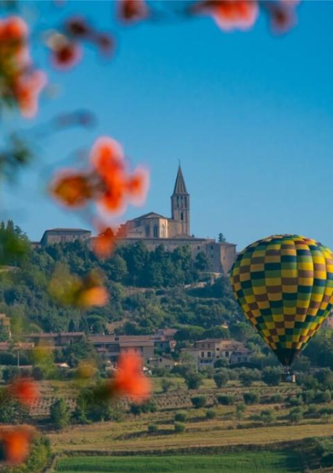
<svg viewBox="0 0 333 473"><path fill-rule="evenodd" d="M151 382L142 371L143 360L134 351L122 353L112 383L112 390L140 402L151 394Z"/></svg>

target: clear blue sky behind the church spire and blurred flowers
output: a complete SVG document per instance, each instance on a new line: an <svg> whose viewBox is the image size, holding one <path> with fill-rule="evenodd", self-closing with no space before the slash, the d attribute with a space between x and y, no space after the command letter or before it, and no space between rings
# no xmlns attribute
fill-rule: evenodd
<svg viewBox="0 0 333 473"><path fill-rule="evenodd" d="M81 13L114 30L108 1L69 1L59 10L36 4L46 24ZM24 4L31 21L33 6ZM304 1L298 26L283 36L269 33L264 15L246 33L223 33L210 18L118 28L109 63L86 49L71 72L49 70L60 93L44 99L28 127L78 108L99 122L39 141L39 161L1 193L3 218L31 239L50 227L86 227L49 200L41 169L105 134L123 144L133 166L151 170L146 205L123 219L151 210L169 216L180 159L196 236L223 232L241 250L269 234L298 233L333 248L332 21L333 2ZM48 64L43 51L35 59ZM22 123L12 115L7 127Z"/></svg>

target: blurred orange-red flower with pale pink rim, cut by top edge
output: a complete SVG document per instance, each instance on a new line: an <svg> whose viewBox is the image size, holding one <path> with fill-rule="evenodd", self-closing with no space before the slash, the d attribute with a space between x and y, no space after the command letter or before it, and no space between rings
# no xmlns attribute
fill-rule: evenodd
<svg viewBox="0 0 333 473"><path fill-rule="evenodd" d="M192 11L212 15L221 29L231 31L250 29L255 24L259 7L257 0L204 0Z"/></svg>

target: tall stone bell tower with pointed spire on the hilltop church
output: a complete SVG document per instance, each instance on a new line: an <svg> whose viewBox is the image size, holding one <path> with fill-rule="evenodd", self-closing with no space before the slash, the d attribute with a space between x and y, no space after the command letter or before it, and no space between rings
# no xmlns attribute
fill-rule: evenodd
<svg viewBox="0 0 333 473"><path fill-rule="evenodd" d="M177 222L177 234L189 236L189 193L180 165L171 195L171 218Z"/></svg>

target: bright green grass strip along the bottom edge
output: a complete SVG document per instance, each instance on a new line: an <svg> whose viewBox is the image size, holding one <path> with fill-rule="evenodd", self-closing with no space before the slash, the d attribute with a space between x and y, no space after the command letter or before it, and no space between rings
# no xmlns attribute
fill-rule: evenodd
<svg viewBox="0 0 333 473"><path fill-rule="evenodd" d="M64 473L289 473L302 472L297 454L257 451L221 455L74 456L62 458Z"/></svg>

